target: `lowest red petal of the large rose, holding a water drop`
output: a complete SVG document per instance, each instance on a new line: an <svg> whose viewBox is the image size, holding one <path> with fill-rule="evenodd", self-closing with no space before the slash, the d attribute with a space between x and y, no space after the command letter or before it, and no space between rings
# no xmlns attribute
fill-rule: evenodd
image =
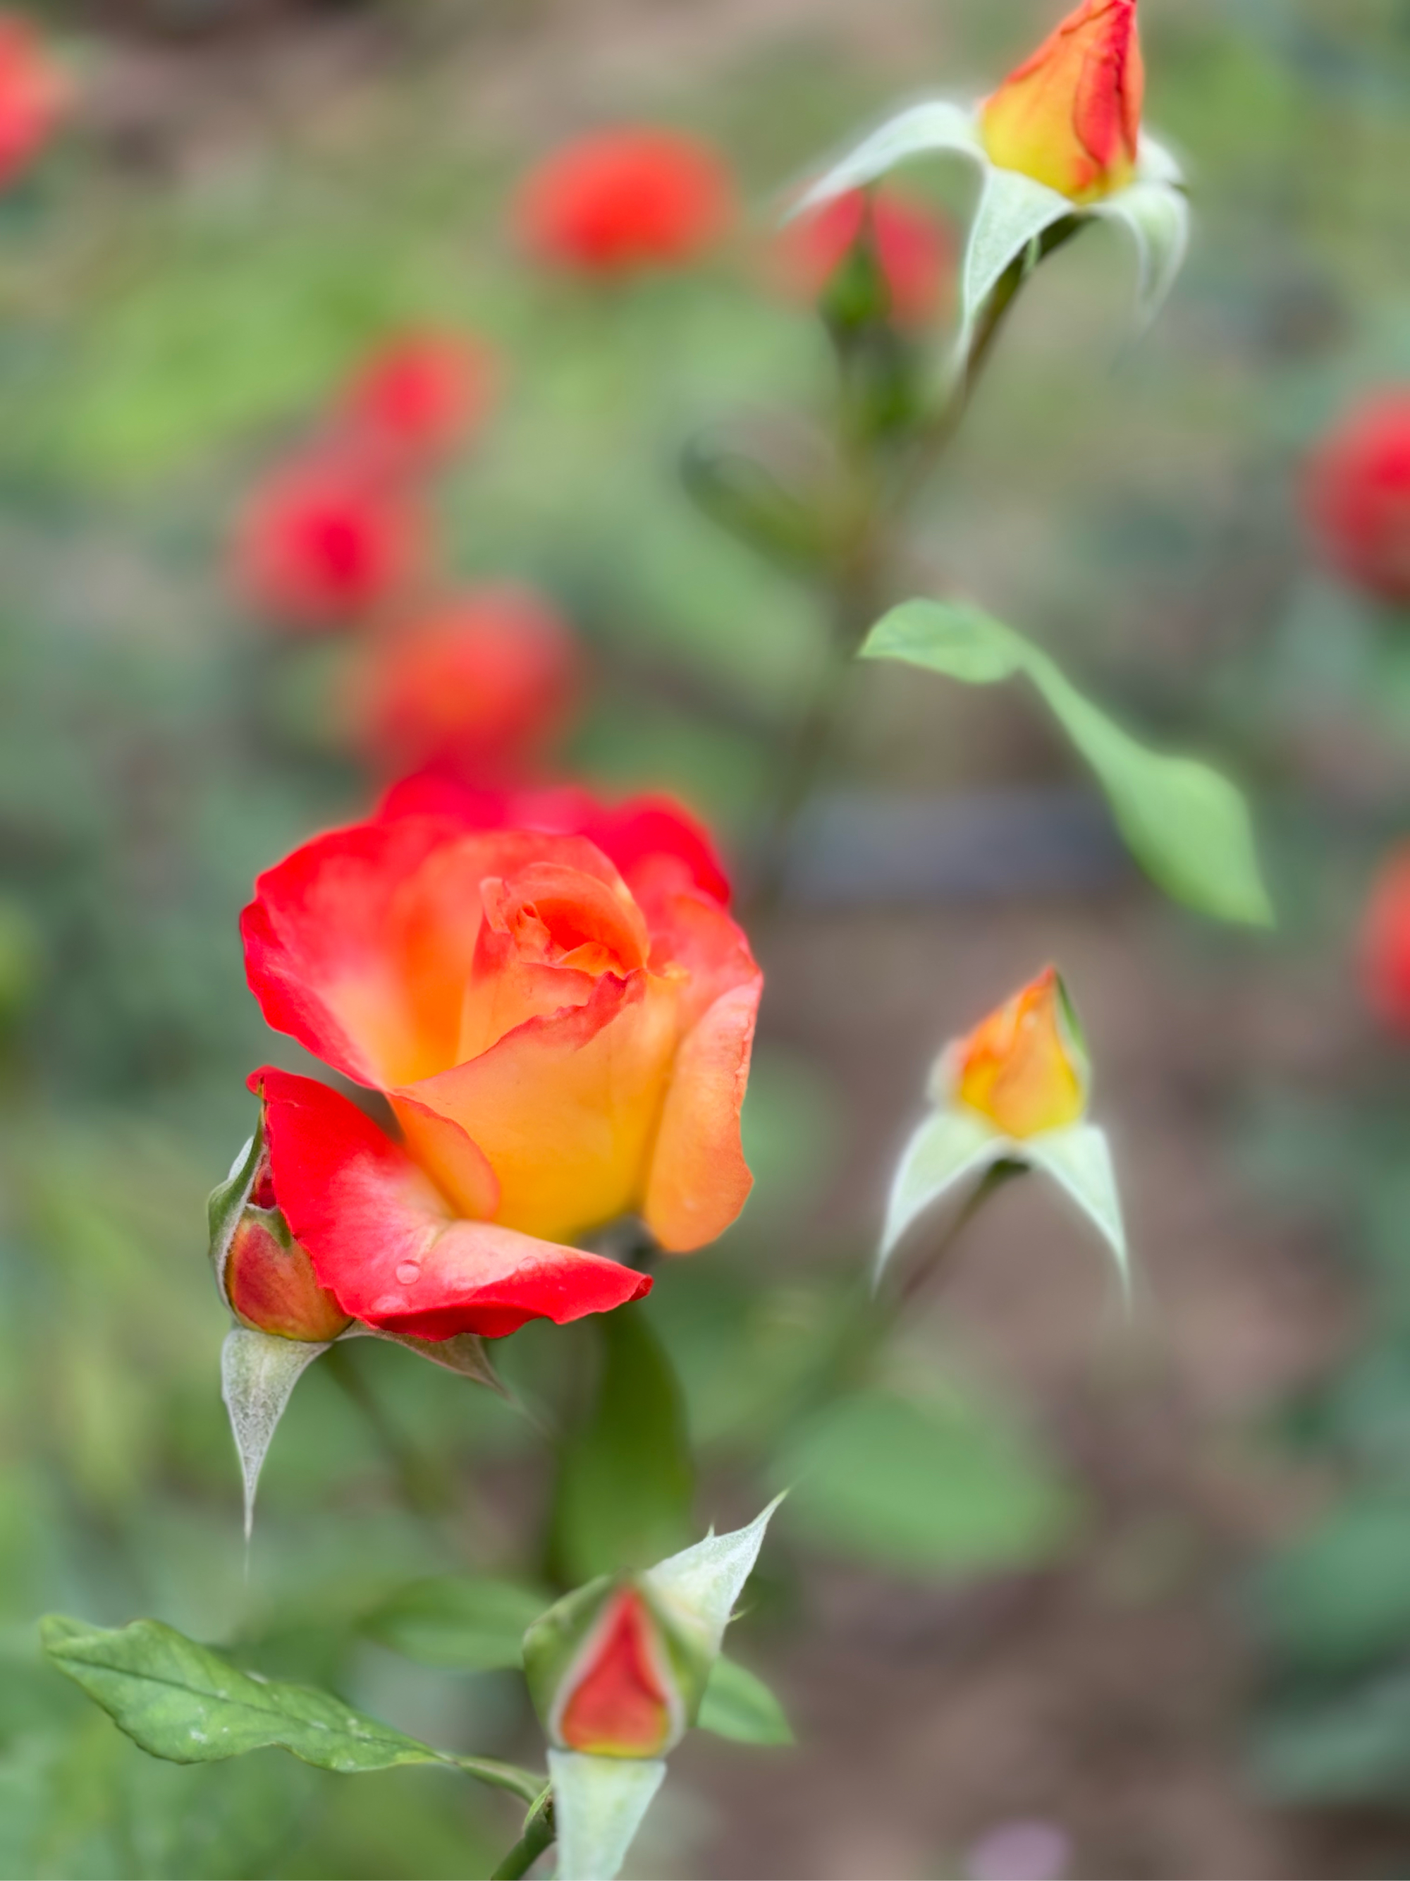
<svg viewBox="0 0 1410 1881"><path fill-rule="evenodd" d="M338 1091L265 1067L274 1187L314 1272L355 1319L385 1332L504 1337L528 1319L556 1326L607 1313L650 1279L573 1247L451 1215L400 1144Z"/></svg>

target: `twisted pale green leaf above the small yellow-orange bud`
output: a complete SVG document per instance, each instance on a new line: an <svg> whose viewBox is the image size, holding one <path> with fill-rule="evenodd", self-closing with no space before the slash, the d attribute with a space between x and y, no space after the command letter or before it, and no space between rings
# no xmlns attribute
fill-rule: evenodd
<svg viewBox="0 0 1410 1881"><path fill-rule="evenodd" d="M1169 758L1113 724L1011 626L966 602L910 600L884 615L867 660L904 660L966 685L1026 673L1111 803L1132 854L1175 901L1216 920L1269 925L1248 807L1218 771Z"/></svg>

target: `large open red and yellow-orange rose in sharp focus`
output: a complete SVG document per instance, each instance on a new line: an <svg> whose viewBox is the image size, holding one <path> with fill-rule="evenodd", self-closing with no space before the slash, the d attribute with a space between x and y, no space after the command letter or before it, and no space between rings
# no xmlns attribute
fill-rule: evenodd
<svg viewBox="0 0 1410 1881"><path fill-rule="evenodd" d="M647 1290L570 1245L605 1223L639 1213L684 1253L739 1215L761 976L673 805L440 803L306 843L241 924L265 1020L380 1091L400 1138L312 1078L252 1083L273 1194L337 1305L500 1337Z"/></svg>

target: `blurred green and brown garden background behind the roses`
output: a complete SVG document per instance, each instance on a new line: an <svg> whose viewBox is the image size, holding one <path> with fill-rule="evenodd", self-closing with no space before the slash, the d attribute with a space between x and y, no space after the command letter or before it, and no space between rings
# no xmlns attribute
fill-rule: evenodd
<svg viewBox="0 0 1410 1881"><path fill-rule="evenodd" d="M701 1520L780 1516L733 1652L797 1746L696 1736L637 1875L1382 1875L1410 1858L1410 1059L1357 986L1410 826L1410 623L1324 572L1308 450L1410 378L1404 0L1145 0L1149 120L1196 243L1126 342L1089 233L1006 333L917 536L1128 722L1256 803L1273 937L1132 869L1019 688L861 668L756 933L758 1193L658 1281ZM816 412L829 356L769 254L782 196L897 96L993 79L1040 0L113 0L43 28L71 115L0 199L0 1866L13 1875L470 1875L513 1836L434 1772L141 1757L36 1616L154 1614L462 1749L534 1757L506 1672L368 1614L431 1573L530 1578L541 1445L489 1394L353 1352L442 1494L314 1366L246 1576L203 1204L280 1055L243 986L254 873L363 811L338 636L250 609L252 487L400 329L481 337L493 412L434 485L457 581L581 636L560 764L679 792L746 854L820 660L805 583L681 451ZM525 167L613 120L714 141L744 201L703 265L526 263ZM916 177L936 214L963 175ZM1004 1193L833 1424L848 1311L940 1042L1047 959L1098 1063L1143 1270ZM295 1057L284 1053L286 1063ZM1032 1191L1032 1193L1028 1193ZM575 1336L521 1360L585 1364ZM803 1381L803 1383L801 1383ZM384 1433L385 1435L385 1433Z"/></svg>

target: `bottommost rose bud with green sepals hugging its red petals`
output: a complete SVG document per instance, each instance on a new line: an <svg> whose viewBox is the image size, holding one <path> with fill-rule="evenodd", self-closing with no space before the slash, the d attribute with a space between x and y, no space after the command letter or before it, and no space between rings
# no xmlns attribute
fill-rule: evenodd
<svg viewBox="0 0 1410 1881"><path fill-rule="evenodd" d="M662 1757L681 1742L709 1668L634 1580L594 1580L525 1635L549 1742L590 1757Z"/></svg>

